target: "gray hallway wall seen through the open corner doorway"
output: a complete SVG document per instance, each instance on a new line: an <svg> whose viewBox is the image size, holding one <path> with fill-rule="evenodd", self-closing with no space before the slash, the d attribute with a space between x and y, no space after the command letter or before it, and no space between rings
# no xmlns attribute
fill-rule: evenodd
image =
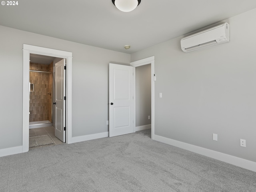
<svg viewBox="0 0 256 192"><path fill-rule="evenodd" d="M136 70L136 127L151 124L151 64ZM148 116L150 115L150 120Z"/></svg>

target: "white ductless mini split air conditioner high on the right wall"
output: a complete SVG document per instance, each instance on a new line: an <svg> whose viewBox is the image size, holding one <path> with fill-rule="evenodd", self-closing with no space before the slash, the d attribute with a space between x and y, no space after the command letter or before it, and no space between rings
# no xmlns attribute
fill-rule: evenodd
<svg viewBox="0 0 256 192"><path fill-rule="evenodd" d="M180 40L180 45L182 51L191 52L201 48L227 43L229 41L229 24L224 23L182 38Z"/></svg>

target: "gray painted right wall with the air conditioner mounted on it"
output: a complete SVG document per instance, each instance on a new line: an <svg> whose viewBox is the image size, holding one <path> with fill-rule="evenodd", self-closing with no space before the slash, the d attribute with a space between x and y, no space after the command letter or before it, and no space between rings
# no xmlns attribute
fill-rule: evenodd
<svg viewBox="0 0 256 192"><path fill-rule="evenodd" d="M226 44L184 53L179 37L132 54L155 56L156 135L256 162L255 20L256 9L224 20Z"/></svg>

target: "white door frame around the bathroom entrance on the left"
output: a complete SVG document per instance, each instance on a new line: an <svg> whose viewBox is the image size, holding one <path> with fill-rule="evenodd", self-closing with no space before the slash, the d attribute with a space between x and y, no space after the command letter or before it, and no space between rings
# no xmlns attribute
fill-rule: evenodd
<svg viewBox="0 0 256 192"><path fill-rule="evenodd" d="M66 143L72 138L72 52L23 44L22 152L29 149L30 53L66 59Z"/></svg>

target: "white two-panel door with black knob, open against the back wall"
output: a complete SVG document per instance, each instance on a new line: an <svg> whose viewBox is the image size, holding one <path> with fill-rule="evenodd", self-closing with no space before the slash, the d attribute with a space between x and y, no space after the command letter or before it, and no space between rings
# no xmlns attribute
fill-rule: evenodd
<svg viewBox="0 0 256 192"><path fill-rule="evenodd" d="M133 133L133 67L109 64L109 136Z"/></svg>

